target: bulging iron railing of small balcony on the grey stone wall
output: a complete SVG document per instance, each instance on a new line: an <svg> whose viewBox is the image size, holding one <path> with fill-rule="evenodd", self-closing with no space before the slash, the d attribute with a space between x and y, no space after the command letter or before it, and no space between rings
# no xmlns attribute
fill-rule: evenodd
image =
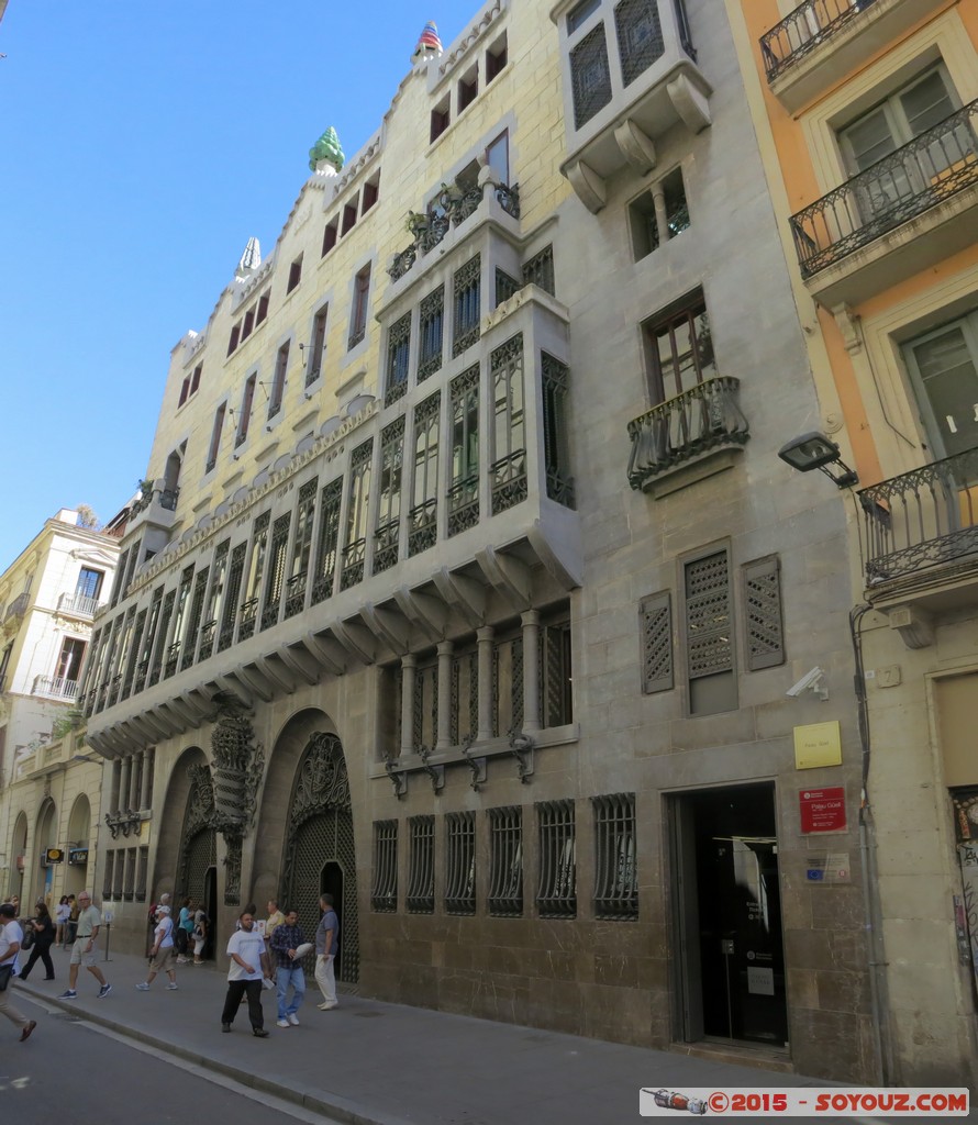
<svg viewBox="0 0 978 1125"><path fill-rule="evenodd" d="M707 379L628 423L628 483L640 489L658 474L708 450L743 446L750 436L739 381Z"/></svg>

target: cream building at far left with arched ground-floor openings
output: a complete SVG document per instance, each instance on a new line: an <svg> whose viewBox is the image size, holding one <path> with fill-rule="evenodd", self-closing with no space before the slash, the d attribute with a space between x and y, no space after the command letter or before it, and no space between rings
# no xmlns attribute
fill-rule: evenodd
<svg viewBox="0 0 978 1125"><path fill-rule="evenodd" d="M117 523L96 531L87 514L62 508L0 576L0 889L23 902L54 892L47 849L69 843L71 889L84 885L98 835L101 759L73 771L84 752L64 736L119 544Z"/></svg>

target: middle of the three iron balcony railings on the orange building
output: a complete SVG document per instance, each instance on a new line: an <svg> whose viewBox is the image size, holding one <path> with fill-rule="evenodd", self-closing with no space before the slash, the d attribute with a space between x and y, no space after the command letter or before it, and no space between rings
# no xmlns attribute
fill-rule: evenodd
<svg viewBox="0 0 978 1125"><path fill-rule="evenodd" d="M978 99L791 216L804 277L978 183Z"/></svg>

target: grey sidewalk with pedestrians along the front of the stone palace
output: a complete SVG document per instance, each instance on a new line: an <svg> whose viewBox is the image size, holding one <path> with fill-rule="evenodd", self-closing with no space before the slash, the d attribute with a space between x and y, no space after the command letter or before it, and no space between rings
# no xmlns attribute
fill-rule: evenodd
<svg viewBox="0 0 978 1125"><path fill-rule="evenodd" d="M158 976L149 992L136 984L145 961L110 955L99 968L113 986L79 974L78 999L59 1000L68 988L68 953L54 950L57 980L43 965L25 996L109 1027L245 1086L267 1090L307 1109L355 1125L594 1125L640 1122L641 1087L826 1086L796 1074L621 1046L530 1027L452 1016L356 996L320 1011L318 990L307 976L300 1026L276 1026L275 993L262 993L266 1040L251 1034L242 1008L231 1035L221 1030L226 991L221 965L179 965L179 990ZM44 1043L44 1019L35 1041Z"/></svg>

